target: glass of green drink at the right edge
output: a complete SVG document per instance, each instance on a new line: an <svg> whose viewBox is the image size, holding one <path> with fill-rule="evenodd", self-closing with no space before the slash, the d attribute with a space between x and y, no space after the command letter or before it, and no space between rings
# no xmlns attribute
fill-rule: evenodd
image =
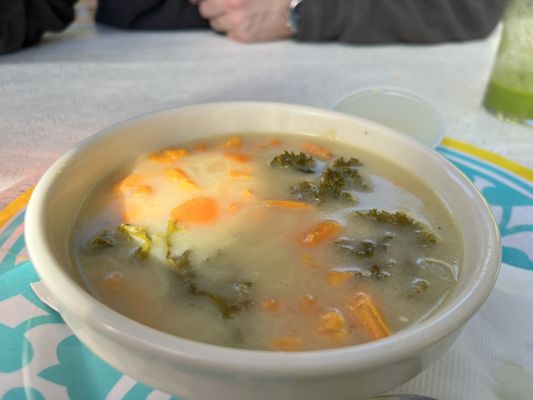
<svg viewBox="0 0 533 400"><path fill-rule="evenodd" d="M483 105L496 117L533 126L533 0L510 0Z"/></svg>

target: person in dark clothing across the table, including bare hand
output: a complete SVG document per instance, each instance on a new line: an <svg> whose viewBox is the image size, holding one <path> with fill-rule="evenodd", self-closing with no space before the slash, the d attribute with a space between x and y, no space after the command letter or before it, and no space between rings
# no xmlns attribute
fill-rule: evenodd
<svg viewBox="0 0 533 400"><path fill-rule="evenodd" d="M87 0L86 0L87 1ZM93 0L94 1L94 0ZM76 0L1 0L0 54L74 20ZM356 44L486 37L506 0L99 0L95 20L120 29L209 29L240 42L294 38Z"/></svg>

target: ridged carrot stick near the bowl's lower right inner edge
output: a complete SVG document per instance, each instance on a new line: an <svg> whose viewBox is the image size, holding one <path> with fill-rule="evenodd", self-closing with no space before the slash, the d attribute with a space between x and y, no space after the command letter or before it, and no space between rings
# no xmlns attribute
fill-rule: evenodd
<svg viewBox="0 0 533 400"><path fill-rule="evenodd" d="M358 292L348 305L350 315L373 340L391 335L391 330L383 315L365 292Z"/></svg>

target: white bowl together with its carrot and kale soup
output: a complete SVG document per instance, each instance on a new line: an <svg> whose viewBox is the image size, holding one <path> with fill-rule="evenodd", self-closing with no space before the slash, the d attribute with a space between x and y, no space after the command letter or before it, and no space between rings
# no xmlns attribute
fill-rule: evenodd
<svg viewBox="0 0 533 400"><path fill-rule="evenodd" d="M36 269L104 360L191 399L357 399L419 373L490 293L497 228L438 154L276 103L173 109L59 159Z"/></svg>

